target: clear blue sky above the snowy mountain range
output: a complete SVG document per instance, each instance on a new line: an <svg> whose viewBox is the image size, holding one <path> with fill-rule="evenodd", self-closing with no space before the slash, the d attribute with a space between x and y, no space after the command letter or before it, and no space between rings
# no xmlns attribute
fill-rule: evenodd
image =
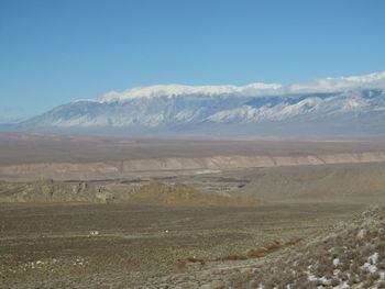
<svg viewBox="0 0 385 289"><path fill-rule="evenodd" d="M384 0L0 0L0 118L134 86L383 70Z"/></svg>

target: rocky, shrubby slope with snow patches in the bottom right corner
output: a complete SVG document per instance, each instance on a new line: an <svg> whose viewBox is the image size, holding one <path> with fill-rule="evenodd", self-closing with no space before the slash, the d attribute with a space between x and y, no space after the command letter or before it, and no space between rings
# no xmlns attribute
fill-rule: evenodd
<svg viewBox="0 0 385 289"><path fill-rule="evenodd" d="M221 288L385 288L385 205L276 254Z"/></svg>

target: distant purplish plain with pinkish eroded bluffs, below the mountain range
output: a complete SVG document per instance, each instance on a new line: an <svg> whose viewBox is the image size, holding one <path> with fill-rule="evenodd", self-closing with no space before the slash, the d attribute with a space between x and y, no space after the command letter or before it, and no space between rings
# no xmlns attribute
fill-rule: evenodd
<svg viewBox="0 0 385 289"><path fill-rule="evenodd" d="M0 133L0 179L94 180L385 162L383 140L133 138Z"/></svg>

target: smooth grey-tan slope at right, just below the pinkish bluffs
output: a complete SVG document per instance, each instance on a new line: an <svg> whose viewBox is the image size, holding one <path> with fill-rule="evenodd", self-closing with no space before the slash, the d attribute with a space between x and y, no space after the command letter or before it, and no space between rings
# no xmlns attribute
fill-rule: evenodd
<svg viewBox="0 0 385 289"><path fill-rule="evenodd" d="M371 198L385 193L385 163L265 168L237 193L266 201Z"/></svg>

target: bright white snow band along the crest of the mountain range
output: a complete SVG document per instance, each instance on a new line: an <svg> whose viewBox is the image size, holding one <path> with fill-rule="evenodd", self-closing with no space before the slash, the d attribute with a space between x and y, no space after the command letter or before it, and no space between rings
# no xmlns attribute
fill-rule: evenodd
<svg viewBox="0 0 385 289"><path fill-rule="evenodd" d="M311 93L341 91L355 88L385 88L385 71L365 76L328 77L315 79L305 84L279 85L255 82L246 86L184 86L158 85L150 87L135 87L123 92L110 91L95 101L124 101L138 98L178 97L185 95L220 96L277 96L285 93Z"/></svg>

